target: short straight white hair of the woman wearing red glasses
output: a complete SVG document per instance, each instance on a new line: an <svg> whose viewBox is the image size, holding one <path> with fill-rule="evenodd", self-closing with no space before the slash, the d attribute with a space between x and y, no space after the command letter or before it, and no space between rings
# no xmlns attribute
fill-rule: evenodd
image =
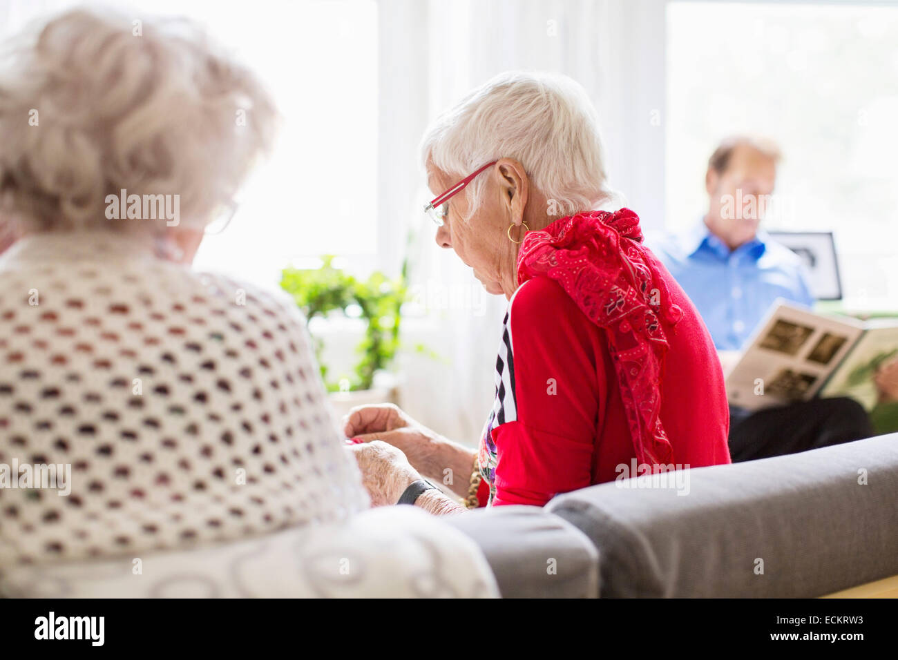
<svg viewBox="0 0 898 660"><path fill-rule="evenodd" d="M565 75L512 71L469 93L427 128L425 165L467 176L499 158L524 165L558 213L592 210L611 198L599 119L585 89ZM480 206L484 179L465 189Z"/></svg>

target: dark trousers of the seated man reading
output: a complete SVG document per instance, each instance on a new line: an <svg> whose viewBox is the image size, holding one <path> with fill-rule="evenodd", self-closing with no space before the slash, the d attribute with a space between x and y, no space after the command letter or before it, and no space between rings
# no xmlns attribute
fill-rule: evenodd
<svg viewBox="0 0 898 660"><path fill-rule="evenodd" d="M730 409L730 457L753 461L873 436L867 411L853 399L812 399L749 413Z"/></svg>

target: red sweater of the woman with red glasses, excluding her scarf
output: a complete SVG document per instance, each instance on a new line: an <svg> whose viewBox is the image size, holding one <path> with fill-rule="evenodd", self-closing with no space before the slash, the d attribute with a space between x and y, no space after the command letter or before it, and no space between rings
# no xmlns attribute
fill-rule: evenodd
<svg viewBox="0 0 898 660"><path fill-rule="evenodd" d="M667 337L661 380L660 418L673 462L730 462L729 409L714 343L674 277L663 273L672 303L683 311ZM629 470L636 459L605 331L549 277L534 277L512 296L496 382L480 445L481 465L495 449L493 505L542 506L559 493L615 480L618 466ZM488 494L487 486L480 489L481 505Z"/></svg>

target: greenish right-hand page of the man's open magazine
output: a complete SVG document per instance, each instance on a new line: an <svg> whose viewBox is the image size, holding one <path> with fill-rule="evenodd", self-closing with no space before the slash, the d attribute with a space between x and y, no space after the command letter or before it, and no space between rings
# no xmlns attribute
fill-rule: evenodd
<svg viewBox="0 0 898 660"><path fill-rule="evenodd" d="M871 321L823 387L821 396L848 396L870 414L878 433L898 431L898 327L895 321Z"/></svg>

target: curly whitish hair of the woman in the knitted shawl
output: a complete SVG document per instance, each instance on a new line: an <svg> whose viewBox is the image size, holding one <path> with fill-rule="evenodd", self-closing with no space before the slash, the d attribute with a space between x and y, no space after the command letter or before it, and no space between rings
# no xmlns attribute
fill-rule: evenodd
<svg viewBox="0 0 898 660"><path fill-rule="evenodd" d="M4 46L0 213L26 232L111 229L120 189L202 228L271 144L268 92L186 20L78 9Z"/></svg>

